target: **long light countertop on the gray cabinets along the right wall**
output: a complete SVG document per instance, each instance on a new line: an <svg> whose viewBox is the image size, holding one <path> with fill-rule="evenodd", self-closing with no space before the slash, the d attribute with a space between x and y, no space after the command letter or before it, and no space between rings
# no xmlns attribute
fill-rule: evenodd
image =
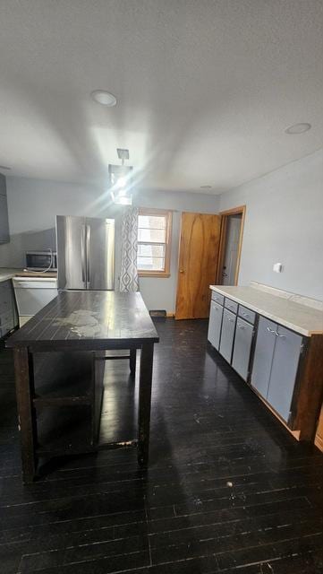
<svg viewBox="0 0 323 574"><path fill-rule="evenodd" d="M210 285L212 291L217 291L248 307L252 311L272 319L305 336L323 335L323 312L307 305L286 300L255 287L232 287L225 285Z"/></svg>

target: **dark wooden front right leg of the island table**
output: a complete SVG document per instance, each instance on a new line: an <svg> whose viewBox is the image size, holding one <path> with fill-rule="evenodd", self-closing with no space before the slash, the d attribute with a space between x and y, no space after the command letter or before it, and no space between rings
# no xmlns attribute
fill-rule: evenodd
<svg viewBox="0 0 323 574"><path fill-rule="evenodd" d="M153 343L145 343L142 345L140 356L138 436L138 462L140 465L147 465L149 459L149 427L153 354Z"/></svg>

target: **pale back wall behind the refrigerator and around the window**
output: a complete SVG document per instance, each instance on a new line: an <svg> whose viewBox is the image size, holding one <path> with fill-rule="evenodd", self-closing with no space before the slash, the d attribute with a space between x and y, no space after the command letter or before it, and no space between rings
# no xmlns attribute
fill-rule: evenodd
<svg viewBox="0 0 323 574"><path fill-rule="evenodd" d="M120 230L123 207L110 201L98 187L31 179L7 178L11 242L0 245L0 267L25 265L28 249L55 248L55 215L115 218L115 274L120 268ZM173 213L171 276L140 278L140 291L149 309L175 309L177 258L182 211L217 213L218 198L205 194L173 192L138 193L140 207L171 209ZM117 287L117 282L115 286Z"/></svg>

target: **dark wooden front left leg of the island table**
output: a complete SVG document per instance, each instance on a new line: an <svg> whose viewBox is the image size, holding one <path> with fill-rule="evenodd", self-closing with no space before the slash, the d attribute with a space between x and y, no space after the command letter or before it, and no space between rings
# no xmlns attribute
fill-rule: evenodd
<svg viewBox="0 0 323 574"><path fill-rule="evenodd" d="M36 474L37 440L36 416L32 405L34 394L32 355L27 347L14 350L14 371L18 409L18 427L21 436L21 462L24 483L31 483Z"/></svg>

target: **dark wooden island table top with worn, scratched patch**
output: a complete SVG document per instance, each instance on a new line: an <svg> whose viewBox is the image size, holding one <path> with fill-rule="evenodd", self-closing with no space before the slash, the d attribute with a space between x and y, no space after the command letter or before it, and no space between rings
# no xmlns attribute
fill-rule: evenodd
<svg viewBox="0 0 323 574"><path fill-rule="evenodd" d="M33 351L127 349L158 343L156 328L139 292L59 291L6 347Z"/></svg>

